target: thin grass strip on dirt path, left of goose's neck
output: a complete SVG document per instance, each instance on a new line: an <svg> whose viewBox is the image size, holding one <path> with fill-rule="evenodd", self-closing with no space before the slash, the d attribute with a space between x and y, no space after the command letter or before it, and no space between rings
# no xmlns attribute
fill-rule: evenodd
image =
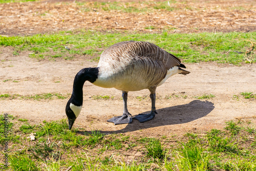
<svg viewBox="0 0 256 171"><path fill-rule="evenodd" d="M62 95L59 93L42 93L35 95L19 95L19 94L1 94L0 99L33 99L33 100L42 100L42 99L66 99L69 95Z"/></svg>

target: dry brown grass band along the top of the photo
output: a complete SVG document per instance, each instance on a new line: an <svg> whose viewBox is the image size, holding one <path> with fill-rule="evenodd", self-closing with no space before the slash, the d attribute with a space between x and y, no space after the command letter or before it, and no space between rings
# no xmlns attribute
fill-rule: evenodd
<svg viewBox="0 0 256 171"><path fill-rule="evenodd" d="M170 33L256 30L255 1L57 2L0 4L0 35L77 29Z"/></svg>

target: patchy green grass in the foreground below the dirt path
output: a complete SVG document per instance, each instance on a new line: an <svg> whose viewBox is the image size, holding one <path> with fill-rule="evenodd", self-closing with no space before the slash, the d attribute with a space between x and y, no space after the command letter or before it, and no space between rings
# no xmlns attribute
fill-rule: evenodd
<svg viewBox="0 0 256 171"><path fill-rule="evenodd" d="M0 137L5 116L0 115ZM8 116L6 170L255 170L255 119L224 130L156 138L68 129L66 119L31 124ZM35 140L27 137L35 133ZM249 137L249 138L248 138ZM2 143L3 145L3 143ZM136 155L134 155L136 154ZM133 160L130 159L133 156Z"/></svg>

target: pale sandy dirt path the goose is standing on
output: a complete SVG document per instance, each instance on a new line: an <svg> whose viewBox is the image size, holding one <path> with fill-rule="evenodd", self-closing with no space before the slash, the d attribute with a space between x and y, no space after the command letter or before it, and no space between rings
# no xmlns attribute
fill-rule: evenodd
<svg viewBox="0 0 256 171"><path fill-rule="evenodd" d="M86 60L37 61L29 58L29 52L13 57L11 48L1 48L0 94L34 95L72 91L75 74L82 68L95 67L96 62ZM84 104L75 127L104 133L126 133L147 136L183 135L188 131L205 131L223 128L225 121L235 118L256 117L256 99L244 99L241 92L256 93L256 65L218 66L216 63L186 64L189 75L175 75L157 89L158 114L148 122L114 125L107 119L122 114L121 92L103 89L90 82L84 85ZM4 81L8 80L8 81ZM13 82L16 80L16 82ZM174 96L175 94L176 96ZM209 100L194 96L213 94ZM110 95L114 99L94 99L93 95ZM143 100L137 97L147 97ZM148 90L129 92L131 114L148 112L151 108ZM173 95L170 99L165 96ZM233 95L238 95L233 98ZM187 97L185 97L187 96ZM184 98L185 97L185 98ZM25 100L1 99L0 112L29 119L31 123L66 118L68 99Z"/></svg>

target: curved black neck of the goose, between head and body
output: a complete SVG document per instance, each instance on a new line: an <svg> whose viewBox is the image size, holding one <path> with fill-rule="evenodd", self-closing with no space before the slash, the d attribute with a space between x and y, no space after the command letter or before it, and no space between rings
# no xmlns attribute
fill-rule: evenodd
<svg viewBox="0 0 256 171"><path fill-rule="evenodd" d="M80 106L82 105L82 88L84 82L87 80L94 82L98 78L99 68L84 68L81 69L75 76L72 92L72 103Z"/></svg>

